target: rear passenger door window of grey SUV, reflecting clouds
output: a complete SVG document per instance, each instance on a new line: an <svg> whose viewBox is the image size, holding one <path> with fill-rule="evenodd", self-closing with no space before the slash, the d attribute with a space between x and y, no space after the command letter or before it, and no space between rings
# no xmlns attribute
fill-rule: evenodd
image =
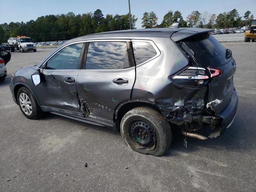
<svg viewBox="0 0 256 192"><path fill-rule="evenodd" d="M126 42L90 42L85 69L117 70L128 67Z"/></svg>

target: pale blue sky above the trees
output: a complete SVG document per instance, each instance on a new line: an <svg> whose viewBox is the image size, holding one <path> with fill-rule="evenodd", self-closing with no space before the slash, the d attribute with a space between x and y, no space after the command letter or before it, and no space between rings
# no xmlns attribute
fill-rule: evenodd
<svg viewBox="0 0 256 192"><path fill-rule="evenodd" d="M256 0L130 0L130 6L131 14L135 14L138 18L136 28L141 28L143 13L151 11L156 13L158 24L169 10L179 10L184 20L195 10L218 15L234 8L238 10L240 16L244 16L249 10L256 18ZM104 16L127 14L128 0L1 0L0 24L28 22L49 14L93 13L96 9L102 10Z"/></svg>

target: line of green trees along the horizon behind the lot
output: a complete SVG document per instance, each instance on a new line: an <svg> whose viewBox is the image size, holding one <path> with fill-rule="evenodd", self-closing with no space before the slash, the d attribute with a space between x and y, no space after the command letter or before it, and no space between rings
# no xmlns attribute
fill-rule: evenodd
<svg viewBox="0 0 256 192"><path fill-rule="evenodd" d="M160 24L154 12L144 12L142 17L142 28L168 27L173 23L179 22L180 27L199 27L199 28L227 28L246 26L254 16L247 11L244 20L239 16L236 9L224 12L216 16L209 12L200 13L192 11L186 20L183 19L180 11L168 11ZM132 29L138 18L131 15ZM93 34L98 32L126 30L130 28L129 14L111 15L105 17L100 9L94 13L75 15L73 12L60 15L46 15L38 17L35 21L29 22L10 22L0 24L0 42L6 42L10 37L18 35L30 36L35 42L68 40L78 36Z"/></svg>

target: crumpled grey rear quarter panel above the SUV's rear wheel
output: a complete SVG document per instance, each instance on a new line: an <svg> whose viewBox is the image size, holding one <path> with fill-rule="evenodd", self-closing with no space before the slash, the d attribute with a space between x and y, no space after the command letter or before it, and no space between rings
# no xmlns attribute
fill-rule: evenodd
<svg viewBox="0 0 256 192"><path fill-rule="evenodd" d="M170 78L188 65L188 58L170 39L156 39L154 43L161 55L136 67L132 100L150 101L166 118L171 112L181 108L190 112L202 110L207 87L179 87Z"/></svg>

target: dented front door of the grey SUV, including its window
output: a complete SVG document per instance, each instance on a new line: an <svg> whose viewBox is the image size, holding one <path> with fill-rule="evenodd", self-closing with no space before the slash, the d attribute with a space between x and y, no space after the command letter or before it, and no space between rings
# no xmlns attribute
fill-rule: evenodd
<svg viewBox="0 0 256 192"><path fill-rule="evenodd" d="M41 83L36 94L41 106L80 112L76 90L79 58L83 43L71 44L59 50L41 70Z"/></svg>

